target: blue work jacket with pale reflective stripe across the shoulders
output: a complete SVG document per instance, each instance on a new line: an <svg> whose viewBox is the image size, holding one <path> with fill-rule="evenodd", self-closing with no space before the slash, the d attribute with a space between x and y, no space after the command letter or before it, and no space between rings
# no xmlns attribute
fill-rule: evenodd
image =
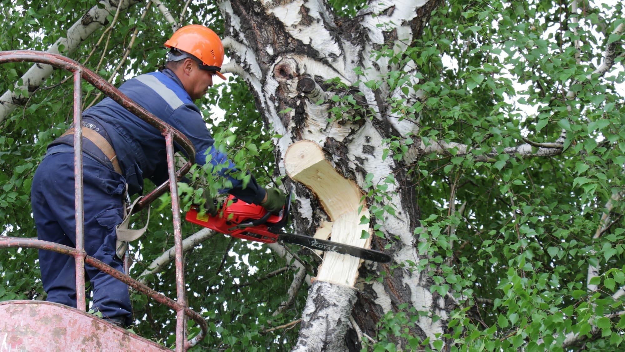
<svg viewBox="0 0 625 352"><path fill-rule="evenodd" d="M196 150L197 164L204 165L209 160L212 165L221 165L218 173L231 182L229 193L248 203L259 204L264 199L266 192L254 177L243 189L242 180L232 176L237 173L234 163L214 147L214 139L199 108L173 71L166 69L136 76L119 90L189 138ZM143 192L145 178L154 184L161 184L168 178L165 138L157 128L111 98L104 98L85 110L83 116L101 123L108 133L130 194Z"/></svg>

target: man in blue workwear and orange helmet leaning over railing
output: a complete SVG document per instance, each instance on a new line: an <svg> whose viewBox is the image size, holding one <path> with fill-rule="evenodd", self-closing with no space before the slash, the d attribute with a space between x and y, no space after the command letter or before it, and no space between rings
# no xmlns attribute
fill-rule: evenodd
<svg viewBox="0 0 625 352"><path fill-rule="evenodd" d="M265 190L252 177L243 187L233 177L236 168L213 146L214 140L193 101L206 94L224 57L221 40L197 24L178 29L166 41L171 48L166 69L137 76L119 87L139 105L184 133L196 149L196 163L222 165L219 175L232 185L228 191L269 211L281 209L284 194ZM122 222L123 196L143 191L143 179L161 184L168 178L165 140L161 132L105 98L83 113L84 236L85 251L123 271L116 257L116 225ZM87 133L85 133L87 132ZM95 132L95 133L94 133ZM103 142L104 141L104 142ZM32 211L37 237L75 247L73 133L48 147L32 182ZM112 151L103 148L112 146ZM224 167L225 165L225 167ZM39 251L47 301L76 307L74 258ZM91 266L85 267L93 286L93 308L104 318L123 325L131 322L128 286Z"/></svg>

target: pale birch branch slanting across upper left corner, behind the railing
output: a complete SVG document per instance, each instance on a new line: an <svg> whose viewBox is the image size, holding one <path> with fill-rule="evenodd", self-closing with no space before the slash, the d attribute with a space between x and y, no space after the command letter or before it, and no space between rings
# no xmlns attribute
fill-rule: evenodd
<svg viewBox="0 0 625 352"><path fill-rule="evenodd" d="M119 0L118 0L119 1ZM108 14L115 13L118 8L118 1L101 0L99 4L103 8L99 8L98 5L93 6L87 13L81 16L76 23L74 23L68 30L67 36L59 38L50 48L46 51L54 54L67 55L74 49L83 43L84 39L88 38L94 31L104 26L108 21L106 16ZM130 6L138 3L138 0L122 0L123 3L119 8L120 11L128 9ZM63 46L63 48L61 48ZM14 48L16 49L16 48ZM27 90L29 93L35 91L46 78L52 74L53 67L50 65L35 64L21 76L21 80L24 85L15 85L18 93L8 90L0 96L0 123L4 121L11 111L15 110L17 106L21 106L25 102L25 98L21 96L21 91Z"/></svg>

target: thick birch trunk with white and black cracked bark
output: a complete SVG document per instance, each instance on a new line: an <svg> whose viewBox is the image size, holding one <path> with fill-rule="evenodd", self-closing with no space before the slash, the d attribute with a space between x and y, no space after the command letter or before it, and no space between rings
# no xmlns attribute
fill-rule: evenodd
<svg viewBox="0 0 625 352"><path fill-rule="evenodd" d="M413 230L419 224L420 214L414 187L407 182L403 171L405 162L394 160L392 152L389 157L382 158L384 140L391 136L407 137L418 131L416 123L407 119L400 121L392 113L391 106L385 105L387 100L404 98L407 105L411 105L419 97L419 92L389 91L384 84L376 90L362 83L357 89L352 86L356 81L384 78L389 71L414 71L414 64L399 67L384 58L374 61L370 53L384 44L396 52L404 51L405 43L421 35L432 9L440 3L439 0L374 0L354 19L334 18L331 8L317 0L264 3L232 0L220 4L226 20L224 44L235 62L227 66L228 71L238 73L249 83L265 123L271 124L274 132L282 135L274 140L276 160L284 159L287 147L293 142L311 140L323 148L326 159L337 172L361 189L367 188L369 179L366 177L370 174L373 184L387 180L387 192L394 193L392 203L396 216L384 215L384 219L372 219L369 224L381 225L380 230L384 232L384 238L374 236L372 239L374 249L384 250L389 239L399 239L387 249L394 262L367 263L359 274L360 277L377 277L380 271L384 271L387 273L384 280L357 282L353 311L349 308L353 299L350 294L336 293L344 291L341 287L333 287L337 285L327 282L315 283L302 316L304 325L295 348L297 351L344 349L349 314L362 333L369 336L376 336L376 324L384 314L399 311L418 316L410 334L418 336L421 341L429 338L430 347L433 341L441 339L438 334L446 333L448 313L457 305L451 295L442 297L436 291L431 293L434 282L426 271L407 266L391 268L398 263L418 263L426 257L416 250ZM379 23L389 25L376 26ZM371 69L364 70L365 75L359 76L354 72L357 66ZM324 82L332 78L339 78L353 89L326 91L328 86ZM362 92L362 96L356 95L356 90ZM360 103L370 104L376 115L372 120L352 118L327 122L327 118L332 117L329 109L334 94L351 94ZM320 100L324 103L319 104ZM278 112L287 108L291 110ZM279 163L279 167L284 175L284 165ZM389 175L394 175L395 180L389 179ZM301 184L296 184L296 194L296 229L312 236L314 229L330 220L330 214ZM373 199L367 199L367 202L376 205ZM336 303L336 307L328 303ZM408 308L404 308L406 306ZM416 311L409 311L411 307ZM418 314L418 311L425 314ZM332 329L336 331L329 334L329 329L325 329L319 334L328 333L327 336L311 336L311 329L307 329L306 324L314 327L315 319L319 317L332 319ZM306 336L302 333L304 331ZM313 338L328 341L328 344L312 343ZM397 343L406 348L406 340L398 338Z"/></svg>

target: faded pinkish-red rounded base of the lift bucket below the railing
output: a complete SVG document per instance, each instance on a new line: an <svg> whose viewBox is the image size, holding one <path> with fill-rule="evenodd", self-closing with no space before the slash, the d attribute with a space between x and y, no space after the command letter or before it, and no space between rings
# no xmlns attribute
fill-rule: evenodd
<svg viewBox="0 0 625 352"><path fill-rule="evenodd" d="M171 351L63 304L0 302L0 351Z"/></svg>

